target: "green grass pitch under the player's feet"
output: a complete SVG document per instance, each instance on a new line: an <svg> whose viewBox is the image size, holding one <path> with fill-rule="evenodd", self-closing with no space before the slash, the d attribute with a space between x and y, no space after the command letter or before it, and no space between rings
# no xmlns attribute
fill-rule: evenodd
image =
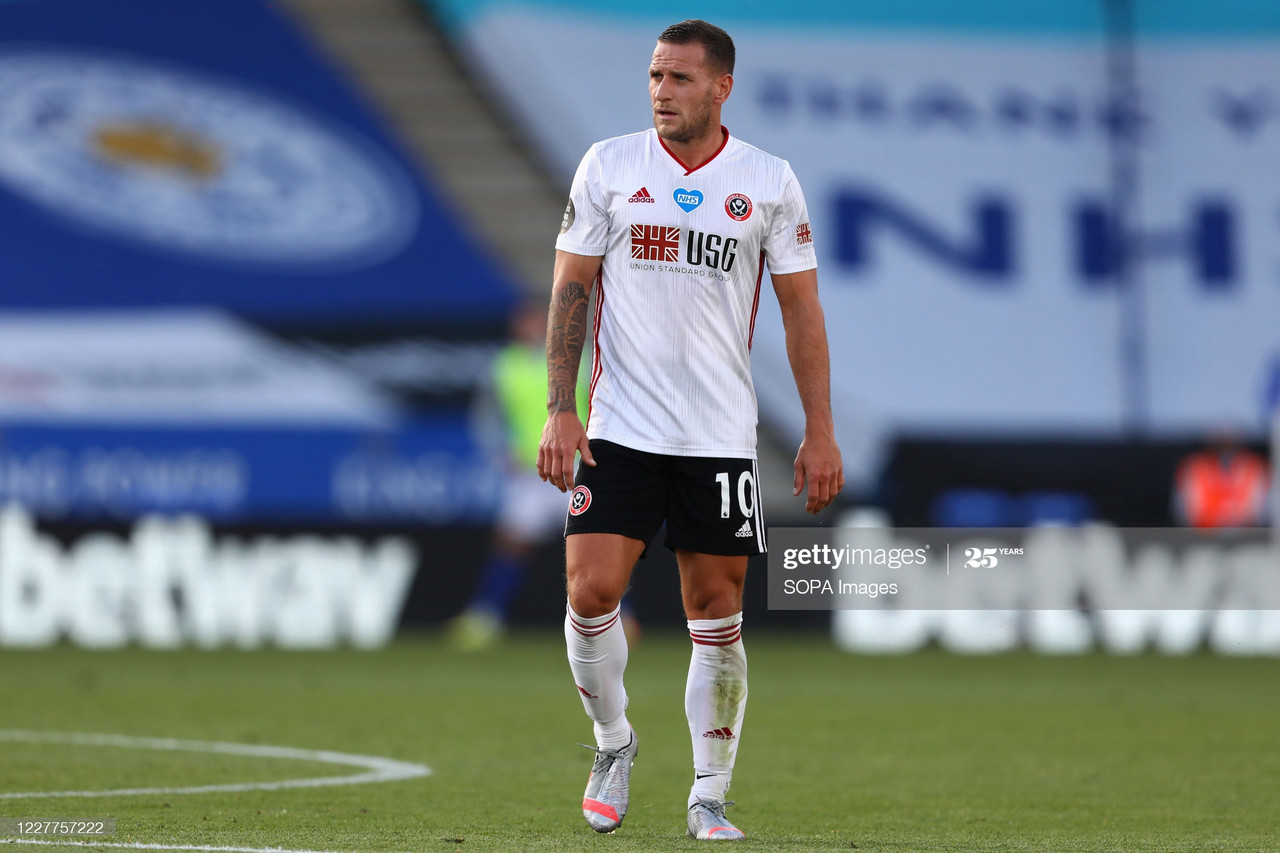
<svg viewBox="0 0 1280 853"><path fill-rule="evenodd" d="M0 799L114 817L110 841L317 850L681 850L687 637L631 654L641 734L612 836L579 803L590 726L554 633L451 653L0 652L0 727L232 740L416 761L425 779L224 794ZM1280 849L1280 662L928 652L852 657L746 634L751 699L730 815L768 850ZM356 772L298 761L0 743L0 793ZM12 850L45 850L14 845ZM77 848L83 849L83 848Z"/></svg>

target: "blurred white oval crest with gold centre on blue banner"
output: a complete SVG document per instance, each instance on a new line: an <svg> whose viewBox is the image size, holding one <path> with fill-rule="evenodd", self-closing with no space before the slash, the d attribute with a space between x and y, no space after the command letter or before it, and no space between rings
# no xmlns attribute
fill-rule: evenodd
<svg viewBox="0 0 1280 853"><path fill-rule="evenodd" d="M361 266L417 225L408 175L335 123L109 55L0 53L0 183L81 227L221 261Z"/></svg>

